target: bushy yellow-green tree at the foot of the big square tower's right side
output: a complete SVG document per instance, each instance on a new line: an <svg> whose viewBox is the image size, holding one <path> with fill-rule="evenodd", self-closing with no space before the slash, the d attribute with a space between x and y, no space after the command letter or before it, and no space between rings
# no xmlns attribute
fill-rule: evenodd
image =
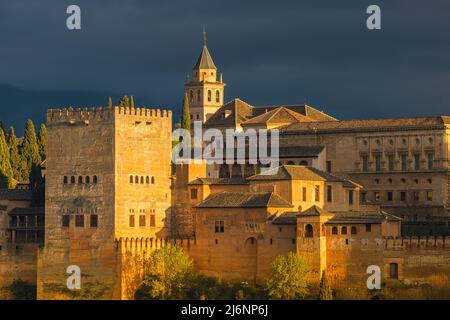
<svg viewBox="0 0 450 320"><path fill-rule="evenodd" d="M167 245L144 261L144 281L136 299L186 299L195 278L192 260L182 248Z"/></svg>

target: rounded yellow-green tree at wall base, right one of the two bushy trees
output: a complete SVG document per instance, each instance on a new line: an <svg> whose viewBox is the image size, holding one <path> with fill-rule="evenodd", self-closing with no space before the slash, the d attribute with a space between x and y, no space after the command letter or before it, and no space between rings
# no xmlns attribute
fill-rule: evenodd
<svg viewBox="0 0 450 320"><path fill-rule="evenodd" d="M266 283L271 299L302 299L308 294L308 265L303 256L290 252L278 256L272 264Z"/></svg>

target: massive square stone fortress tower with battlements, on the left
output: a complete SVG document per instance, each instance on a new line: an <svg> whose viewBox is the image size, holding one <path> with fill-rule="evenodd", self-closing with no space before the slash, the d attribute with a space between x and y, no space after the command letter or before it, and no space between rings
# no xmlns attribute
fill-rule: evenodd
<svg viewBox="0 0 450 320"><path fill-rule="evenodd" d="M121 245L169 236L172 113L58 109L47 126L38 298L122 298ZM67 289L70 265L81 269L81 290Z"/></svg>

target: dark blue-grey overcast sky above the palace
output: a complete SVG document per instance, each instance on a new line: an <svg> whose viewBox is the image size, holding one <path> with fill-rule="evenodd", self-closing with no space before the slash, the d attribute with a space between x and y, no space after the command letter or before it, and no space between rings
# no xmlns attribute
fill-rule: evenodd
<svg viewBox="0 0 450 320"><path fill-rule="evenodd" d="M66 28L70 4L82 30ZM381 30L366 28L370 4L381 7ZM90 92L176 109L203 24L226 100L306 101L339 119L450 114L448 0L1 0L0 84L63 92L62 106L74 103L70 92ZM39 114L55 107L45 99ZM7 103L17 117L0 118L28 116Z"/></svg>

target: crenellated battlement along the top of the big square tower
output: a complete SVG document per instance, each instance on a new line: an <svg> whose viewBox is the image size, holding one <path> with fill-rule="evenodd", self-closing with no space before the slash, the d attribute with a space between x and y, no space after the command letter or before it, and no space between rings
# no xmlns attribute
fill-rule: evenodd
<svg viewBox="0 0 450 320"><path fill-rule="evenodd" d="M64 108L49 109L47 111L47 125L54 124L77 124L90 122L107 122L117 116L138 116L145 118L168 118L171 121L172 111L148 108L128 108L116 106L108 107L91 107L91 108Z"/></svg>

